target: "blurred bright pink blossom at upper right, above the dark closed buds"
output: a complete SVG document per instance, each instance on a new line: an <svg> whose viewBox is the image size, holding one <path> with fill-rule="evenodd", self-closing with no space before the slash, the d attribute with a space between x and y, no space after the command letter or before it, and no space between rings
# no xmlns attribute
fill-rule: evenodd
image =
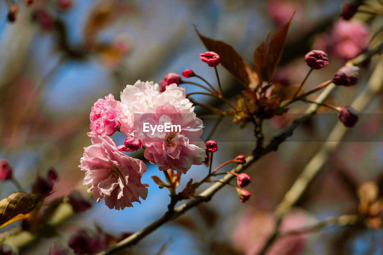
<svg viewBox="0 0 383 255"><path fill-rule="evenodd" d="M369 45L367 26L355 20L339 19L330 34L319 34L313 49L321 49L345 60L356 57Z"/></svg>

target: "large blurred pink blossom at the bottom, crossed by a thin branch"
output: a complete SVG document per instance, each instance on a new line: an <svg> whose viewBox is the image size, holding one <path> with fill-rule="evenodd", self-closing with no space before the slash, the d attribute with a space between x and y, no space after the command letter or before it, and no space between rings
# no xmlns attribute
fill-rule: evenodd
<svg viewBox="0 0 383 255"><path fill-rule="evenodd" d="M282 231L302 228L308 218L302 210L293 210L286 214L281 224ZM249 209L237 224L232 236L232 244L245 255L257 254L267 237L272 233L275 217L266 211ZM293 235L282 237L274 242L265 255L299 255L304 249L306 236Z"/></svg>

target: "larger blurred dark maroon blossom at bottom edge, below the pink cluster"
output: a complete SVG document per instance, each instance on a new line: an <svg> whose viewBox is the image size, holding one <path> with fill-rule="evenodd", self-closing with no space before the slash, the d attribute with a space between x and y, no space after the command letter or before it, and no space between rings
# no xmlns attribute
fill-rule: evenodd
<svg viewBox="0 0 383 255"><path fill-rule="evenodd" d="M79 255L94 254L106 248L105 237L98 232L79 229L70 237L68 246Z"/></svg>

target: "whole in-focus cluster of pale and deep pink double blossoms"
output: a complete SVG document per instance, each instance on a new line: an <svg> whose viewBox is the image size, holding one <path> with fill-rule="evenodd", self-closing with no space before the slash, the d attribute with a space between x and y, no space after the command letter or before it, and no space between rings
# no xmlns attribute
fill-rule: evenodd
<svg viewBox="0 0 383 255"><path fill-rule="evenodd" d="M92 145L85 148L80 168L85 172L84 184L93 191L95 201L105 200L117 210L146 199L147 184L141 183L146 164L123 153L144 148L144 157L159 170L173 169L185 174L191 165L201 165L206 146L200 139L203 123L194 107L178 87L180 76L167 75L161 84L137 81L121 92L121 101L109 94L95 102L90 113ZM164 127L165 123L180 130L157 129L147 132L144 124ZM117 146L110 135L119 131L126 138Z"/></svg>

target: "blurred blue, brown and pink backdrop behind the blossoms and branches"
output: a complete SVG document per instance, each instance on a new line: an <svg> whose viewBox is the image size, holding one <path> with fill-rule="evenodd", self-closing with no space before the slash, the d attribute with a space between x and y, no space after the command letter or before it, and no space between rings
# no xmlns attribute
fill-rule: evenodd
<svg viewBox="0 0 383 255"><path fill-rule="evenodd" d="M16 20L7 18L11 5L18 5ZM344 63L366 50L382 19L368 19L358 13L354 19L340 19L342 0L0 0L0 158L14 167L15 178L28 192L38 175L56 169L58 191L46 201L81 190L84 173L78 165L87 136L93 103L109 93L119 100L127 84L137 80L158 82L169 72L190 68L216 86L212 68L200 61L206 51L192 24L201 34L231 44L252 64L253 54L266 38L285 24L295 11L280 68L275 74L282 88L301 82L308 71L304 54L322 49L329 54L328 67L313 71L306 82L314 87L330 80ZM367 16L366 16L367 15ZM358 19L361 22L358 22ZM368 24L362 21L368 21ZM329 102L348 105L370 76L376 58L365 63L358 86L338 89ZM223 67L218 67L225 94L234 102L243 87ZM194 78L190 78L190 81ZM183 85L181 85L183 86ZM185 84L187 93L200 91ZM206 96L193 98L226 109ZM282 131L305 109L294 104L289 114L265 121L266 140ZM203 109L196 107L197 113ZM295 229L329 216L355 213L355 189L368 180L381 179L383 166L381 98L375 97L360 115L358 125L326 162L321 174L282 223ZM240 203L237 192L226 187L209 203L202 204L172 223L160 227L139 242L132 254L256 254L272 231L273 210L285 192L316 153L337 123L334 112L320 114L298 130L247 172L252 197ZM205 139L215 120L204 119ZM118 145L124 136L116 133ZM213 139L218 152L213 166L235 156L249 155L255 146L253 127L241 130L224 119ZM140 154L133 154L142 157ZM231 169L229 165L227 171ZM190 178L197 181L207 167L193 166L182 176L180 188ZM169 191L159 189L151 175L162 174L148 164L142 183L149 184L147 199L123 211L110 210L104 202L92 200L92 208L76 214L54 231L39 235L20 254L47 254L55 240L67 245L78 227L103 231L118 237L135 232L166 210ZM1 197L17 189L0 183ZM202 185L198 191L204 190ZM2 229L7 231L20 222ZM382 254L383 231L357 227L330 227L316 233L281 239L268 254Z"/></svg>

